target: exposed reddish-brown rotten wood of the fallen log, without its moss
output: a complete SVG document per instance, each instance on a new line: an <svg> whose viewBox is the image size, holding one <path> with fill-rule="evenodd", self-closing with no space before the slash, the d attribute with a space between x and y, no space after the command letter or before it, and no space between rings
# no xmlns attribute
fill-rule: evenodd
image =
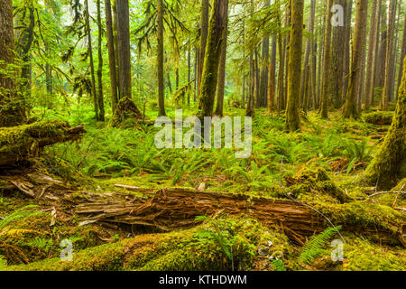
<svg viewBox="0 0 406 289"><path fill-rule="evenodd" d="M315 210L295 200L250 198L246 195L216 192L166 189L158 191L152 200L95 201L79 204L76 212L85 222L109 222L115 224L143 225L171 231L198 225L198 216L216 217L221 213L232 216L245 215L258 219L268 227L282 228L291 240L300 245L306 238L323 231L328 221ZM383 242L402 236L373 224L340 223L344 229L375 236ZM401 226L401 232L403 227Z"/></svg>

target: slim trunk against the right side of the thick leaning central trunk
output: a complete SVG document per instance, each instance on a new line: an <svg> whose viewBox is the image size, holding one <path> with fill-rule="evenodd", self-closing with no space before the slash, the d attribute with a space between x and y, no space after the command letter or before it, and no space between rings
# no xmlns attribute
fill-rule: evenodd
<svg viewBox="0 0 406 289"><path fill-rule="evenodd" d="M217 107L215 114L218 117L223 117L224 108L224 92L226 87L226 55L227 55L227 36L228 36L228 1L226 3L225 28L223 31L223 42L221 47L220 64L218 67L218 85L217 85Z"/></svg>

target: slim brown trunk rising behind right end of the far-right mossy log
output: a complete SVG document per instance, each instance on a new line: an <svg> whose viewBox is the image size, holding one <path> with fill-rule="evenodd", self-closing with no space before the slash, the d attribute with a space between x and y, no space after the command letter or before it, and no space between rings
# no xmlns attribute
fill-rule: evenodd
<svg viewBox="0 0 406 289"><path fill-rule="evenodd" d="M389 16L388 16L388 32L387 32L387 42L386 42L386 63L385 63L385 75L383 81L383 110L388 110L389 100L391 98L391 69L393 63L392 52L393 52L393 35L394 26L396 19L396 7L397 0L391 0L389 5Z"/></svg>

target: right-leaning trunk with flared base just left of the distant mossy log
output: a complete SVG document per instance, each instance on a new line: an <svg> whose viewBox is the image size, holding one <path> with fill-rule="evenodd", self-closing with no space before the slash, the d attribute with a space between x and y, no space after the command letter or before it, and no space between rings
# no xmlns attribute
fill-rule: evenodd
<svg viewBox="0 0 406 289"><path fill-rule="evenodd" d="M357 0L355 16L355 33L353 42L353 57L351 61L350 79L346 93L346 104L343 117L357 118L359 116L356 107L358 88L361 85L362 56L365 49L366 20L368 12L368 1Z"/></svg>

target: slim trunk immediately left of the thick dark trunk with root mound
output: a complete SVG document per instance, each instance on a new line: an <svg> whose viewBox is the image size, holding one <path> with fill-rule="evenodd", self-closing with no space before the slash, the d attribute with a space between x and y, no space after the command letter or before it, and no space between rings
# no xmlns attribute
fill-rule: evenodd
<svg viewBox="0 0 406 289"><path fill-rule="evenodd" d="M108 64L110 70L110 86L112 98L113 118L116 117L118 108L118 87L116 78L116 64L115 64L115 40L113 34L113 17L111 13L111 2L105 0L106 9L106 35L107 35L107 49L108 49Z"/></svg>

